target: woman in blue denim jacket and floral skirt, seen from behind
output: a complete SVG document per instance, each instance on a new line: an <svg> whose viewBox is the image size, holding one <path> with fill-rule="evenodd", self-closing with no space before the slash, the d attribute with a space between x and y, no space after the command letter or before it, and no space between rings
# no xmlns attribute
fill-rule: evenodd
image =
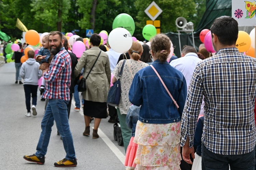
<svg viewBox="0 0 256 170"><path fill-rule="evenodd" d="M145 67L134 76L129 100L140 106L139 120L133 142L138 143L134 163L136 169L180 169L181 116L187 96L186 80L179 70L166 61L171 41L157 34L151 41L152 66L156 69L172 97L155 71Z"/></svg>

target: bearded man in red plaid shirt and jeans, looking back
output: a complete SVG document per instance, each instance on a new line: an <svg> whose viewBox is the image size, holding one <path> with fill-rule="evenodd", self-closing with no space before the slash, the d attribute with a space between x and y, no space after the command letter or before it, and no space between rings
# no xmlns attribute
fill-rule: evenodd
<svg viewBox="0 0 256 170"><path fill-rule="evenodd" d="M43 98L49 99L41 123L42 132L37 145L37 152L25 155L24 159L44 164L54 120L62 137L66 157L54 163L57 167L74 167L77 165L72 134L69 128L67 105L70 100L69 87L71 80L71 58L63 47L64 40L58 31L49 33L51 53L54 55L51 64L43 63L41 69L46 81Z"/></svg>

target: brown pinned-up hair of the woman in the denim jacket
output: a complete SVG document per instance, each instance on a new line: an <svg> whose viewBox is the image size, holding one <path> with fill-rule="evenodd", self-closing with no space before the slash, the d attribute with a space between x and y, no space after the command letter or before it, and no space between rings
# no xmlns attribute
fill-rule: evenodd
<svg viewBox="0 0 256 170"><path fill-rule="evenodd" d="M168 36L164 34L157 34L151 40L151 50L154 56L160 60L160 62L165 62L170 54L171 50L171 40Z"/></svg>

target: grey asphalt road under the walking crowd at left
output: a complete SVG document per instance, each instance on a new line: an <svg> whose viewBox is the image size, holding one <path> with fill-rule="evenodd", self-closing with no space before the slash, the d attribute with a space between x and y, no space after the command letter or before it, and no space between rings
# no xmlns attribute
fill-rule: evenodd
<svg viewBox="0 0 256 170"><path fill-rule="evenodd" d="M23 80L22 80L23 81ZM23 85L15 84L14 63L0 64L0 169L1 170L52 170L59 169L54 163L65 158L60 136L54 125L52 135L45 155L45 164L39 165L27 162L24 155L36 152L41 133L44 101L40 101L38 90L37 116L26 117L25 94ZM82 96L80 95L80 99ZM85 129L82 111L74 111L74 101L71 106L69 124L73 135L77 157L77 167L62 168L76 170L124 170L125 151L118 146L113 137L113 124L108 119L102 119L98 134L100 138L93 139L93 123L91 135L83 136Z"/></svg>

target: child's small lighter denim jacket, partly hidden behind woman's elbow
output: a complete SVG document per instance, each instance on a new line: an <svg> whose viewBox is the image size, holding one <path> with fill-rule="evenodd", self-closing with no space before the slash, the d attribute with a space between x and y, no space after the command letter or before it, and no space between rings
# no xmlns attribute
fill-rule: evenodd
<svg viewBox="0 0 256 170"><path fill-rule="evenodd" d="M136 124L138 122L140 106L131 105L126 115L126 124L131 129L131 137L135 136Z"/></svg>

